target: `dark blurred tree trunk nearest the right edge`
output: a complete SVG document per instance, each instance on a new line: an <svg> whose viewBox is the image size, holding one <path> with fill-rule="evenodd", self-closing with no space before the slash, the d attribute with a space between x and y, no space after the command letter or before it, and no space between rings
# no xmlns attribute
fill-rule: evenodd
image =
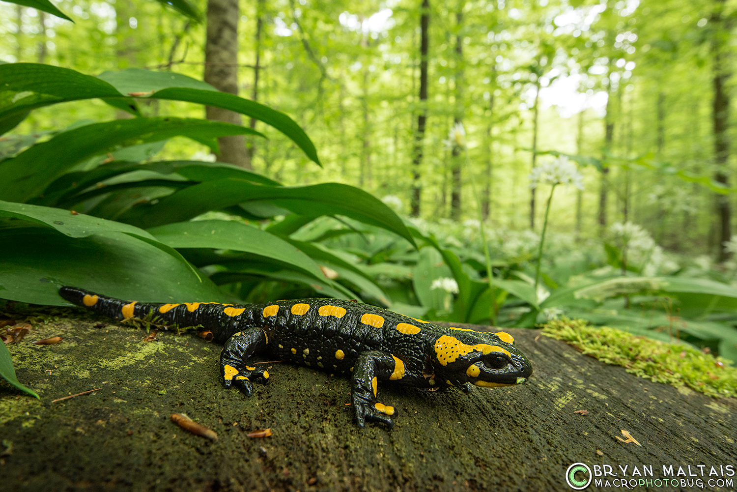
<svg viewBox="0 0 737 492"><path fill-rule="evenodd" d="M728 43L732 32L733 21L723 18L722 14L726 0L715 0L715 8L711 15L713 39L711 52L713 56L713 110L712 122L714 131L714 163L716 171L714 180L718 183L729 184L728 164L730 158L730 94L727 83L732 76L730 56L728 55ZM731 208L728 195L716 194L716 214L719 225L717 238L719 238L719 261L730 259L731 254L724 249L724 242L732 236Z"/></svg>

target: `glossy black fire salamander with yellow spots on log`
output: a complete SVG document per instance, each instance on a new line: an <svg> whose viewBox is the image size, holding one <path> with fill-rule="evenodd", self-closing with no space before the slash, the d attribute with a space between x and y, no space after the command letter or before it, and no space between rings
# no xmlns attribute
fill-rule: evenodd
<svg viewBox="0 0 737 492"><path fill-rule="evenodd" d="M377 399L379 381L430 390L520 384L532 373L509 333L441 328L382 308L338 299L297 299L270 304L126 302L80 288L61 297L115 319L158 316L180 326L202 325L225 344L220 372L226 387L250 396L269 373L248 365L254 353L351 373L351 402L358 426L366 420L391 427L393 406Z"/></svg>

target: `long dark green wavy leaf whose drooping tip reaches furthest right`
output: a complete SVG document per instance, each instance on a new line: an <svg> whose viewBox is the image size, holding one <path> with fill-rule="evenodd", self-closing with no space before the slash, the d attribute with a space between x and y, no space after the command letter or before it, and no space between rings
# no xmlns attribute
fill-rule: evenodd
<svg viewBox="0 0 737 492"><path fill-rule="evenodd" d="M269 187L242 179L217 179L197 184L161 198L157 204L131 209L122 221L144 228L186 221L209 210L220 210L244 201L269 200L298 215L345 215L382 227L414 244L402 220L389 207L363 190L340 183L304 187Z"/></svg>

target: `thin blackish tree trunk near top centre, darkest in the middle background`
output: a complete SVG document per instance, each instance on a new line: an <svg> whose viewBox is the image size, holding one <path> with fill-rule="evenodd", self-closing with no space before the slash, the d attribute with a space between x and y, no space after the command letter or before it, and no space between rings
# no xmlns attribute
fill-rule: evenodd
<svg viewBox="0 0 737 492"><path fill-rule="evenodd" d="M430 1L422 0L420 6L419 27L421 40L419 47L419 105L420 112L417 115L417 133L415 134L415 145L412 158L412 200L411 215L419 217L420 198L422 196L422 183L420 182L420 164L422 164L422 144L425 140L425 122L427 120L427 52L430 47Z"/></svg>

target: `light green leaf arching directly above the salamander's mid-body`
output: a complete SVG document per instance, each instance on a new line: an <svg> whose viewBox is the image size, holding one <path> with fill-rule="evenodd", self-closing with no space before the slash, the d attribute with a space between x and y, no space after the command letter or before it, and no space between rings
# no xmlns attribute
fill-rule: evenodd
<svg viewBox="0 0 737 492"><path fill-rule="evenodd" d="M149 229L156 239L172 248L212 248L257 254L286 263L323 281L320 267L290 243L261 229L235 221L192 221Z"/></svg>

